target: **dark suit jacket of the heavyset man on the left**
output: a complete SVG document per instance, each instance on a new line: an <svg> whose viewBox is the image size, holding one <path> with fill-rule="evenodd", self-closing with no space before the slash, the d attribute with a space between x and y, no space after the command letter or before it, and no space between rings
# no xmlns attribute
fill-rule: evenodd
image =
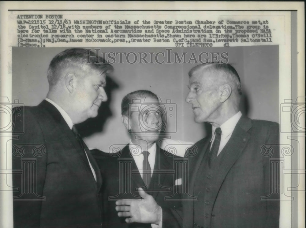
<svg viewBox="0 0 306 228"><path fill-rule="evenodd" d="M49 102L19 111L13 140L14 227L101 227L102 177ZM24 133L17 134L22 128ZM88 148L85 148L88 150Z"/></svg>

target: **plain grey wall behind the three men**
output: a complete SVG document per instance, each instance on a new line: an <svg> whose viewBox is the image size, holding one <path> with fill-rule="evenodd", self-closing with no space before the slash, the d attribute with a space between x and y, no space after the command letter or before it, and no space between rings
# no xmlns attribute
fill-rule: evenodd
<svg viewBox="0 0 306 228"><path fill-rule="evenodd" d="M47 69L51 59L66 48L12 48L12 99L25 105L38 105L47 95ZM94 49L94 48L92 48ZM102 52L165 52L165 48L101 48ZM229 63L237 70L252 119L279 122L278 46L227 48L172 48L172 52L228 52ZM203 124L194 122L191 105L185 102L188 93L188 71L197 64L114 64L112 79L118 88L111 94L112 116L103 130L84 139L89 148L108 151L113 144L122 148L129 142L121 123L121 100L131 91L146 89L157 94L162 102L170 99L177 106L177 132L172 139L196 142L205 136ZM174 128L174 122L170 122Z"/></svg>

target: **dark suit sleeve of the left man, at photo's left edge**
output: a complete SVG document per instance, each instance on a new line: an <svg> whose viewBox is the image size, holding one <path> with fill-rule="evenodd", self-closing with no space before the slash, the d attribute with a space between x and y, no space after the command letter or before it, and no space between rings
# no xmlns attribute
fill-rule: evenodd
<svg viewBox="0 0 306 228"><path fill-rule="evenodd" d="M12 142L14 227L39 227L47 151L37 118L24 112L24 121L15 123ZM21 132L24 129L24 133ZM15 133L16 132L16 133Z"/></svg>

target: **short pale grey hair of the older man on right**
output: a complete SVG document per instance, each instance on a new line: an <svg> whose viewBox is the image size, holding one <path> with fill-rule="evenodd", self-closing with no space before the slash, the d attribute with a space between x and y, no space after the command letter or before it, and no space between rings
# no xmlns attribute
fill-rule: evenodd
<svg viewBox="0 0 306 228"><path fill-rule="evenodd" d="M242 94L240 77L239 77L237 71L235 70L235 68L232 65L230 65L229 63L227 63L227 64L221 64L221 63L200 64L200 65L197 65L197 66L193 67L188 72L188 75L189 75L189 77L191 77L193 73L201 71L201 70L204 71L204 70L207 70L207 69L212 69L216 73L220 73L220 74L226 76L226 78L230 82L232 82L233 84L235 84L237 86L238 94L239 95Z"/></svg>

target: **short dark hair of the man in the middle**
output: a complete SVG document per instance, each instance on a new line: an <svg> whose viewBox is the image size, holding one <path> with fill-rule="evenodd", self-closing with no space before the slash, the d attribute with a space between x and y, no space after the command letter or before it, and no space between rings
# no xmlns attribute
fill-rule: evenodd
<svg viewBox="0 0 306 228"><path fill-rule="evenodd" d="M136 90L125 95L121 102L121 115L128 116L131 114L131 112L129 113L129 104L132 104L133 99L140 99L146 97L155 97L156 99L158 99L156 94L149 90Z"/></svg>

